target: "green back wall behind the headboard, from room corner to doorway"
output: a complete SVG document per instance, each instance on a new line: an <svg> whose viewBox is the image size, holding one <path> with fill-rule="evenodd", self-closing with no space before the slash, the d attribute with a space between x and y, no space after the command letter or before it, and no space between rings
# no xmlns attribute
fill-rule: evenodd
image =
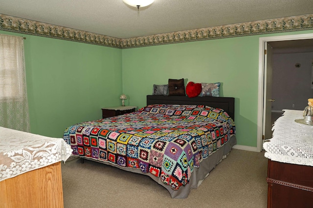
<svg viewBox="0 0 313 208"><path fill-rule="evenodd" d="M168 79L221 82L220 96L235 97L237 144L257 147L259 38L313 31L212 39L124 49L123 92L129 104L145 105L153 84Z"/></svg>

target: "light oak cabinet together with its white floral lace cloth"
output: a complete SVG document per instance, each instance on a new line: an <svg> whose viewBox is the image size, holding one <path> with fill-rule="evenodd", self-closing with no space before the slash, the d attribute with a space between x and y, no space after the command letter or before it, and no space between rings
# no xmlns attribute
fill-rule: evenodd
<svg viewBox="0 0 313 208"><path fill-rule="evenodd" d="M63 208L62 138L0 127L0 208Z"/></svg>

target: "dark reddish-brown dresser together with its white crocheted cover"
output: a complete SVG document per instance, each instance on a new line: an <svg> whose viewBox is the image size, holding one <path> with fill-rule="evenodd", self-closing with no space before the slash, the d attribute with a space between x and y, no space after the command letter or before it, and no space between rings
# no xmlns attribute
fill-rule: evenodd
<svg viewBox="0 0 313 208"><path fill-rule="evenodd" d="M313 126L302 111L284 110L264 143L268 208L313 208Z"/></svg>

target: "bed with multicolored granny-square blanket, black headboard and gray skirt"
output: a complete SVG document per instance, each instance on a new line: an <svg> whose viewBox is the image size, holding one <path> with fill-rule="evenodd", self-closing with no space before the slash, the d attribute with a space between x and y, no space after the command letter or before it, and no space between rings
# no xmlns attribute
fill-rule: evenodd
<svg viewBox="0 0 313 208"><path fill-rule="evenodd" d="M148 175L187 198L236 144L233 97L147 95L134 113L65 130L72 154Z"/></svg>

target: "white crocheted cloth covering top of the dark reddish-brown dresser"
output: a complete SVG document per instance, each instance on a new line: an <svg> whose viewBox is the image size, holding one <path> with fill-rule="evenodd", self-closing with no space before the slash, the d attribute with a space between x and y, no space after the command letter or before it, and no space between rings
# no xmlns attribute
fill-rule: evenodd
<svg viewBox="0 0 313 208"><path fill-rule="evenodd" d="M263 144L268 159L313 166L313 126L295 122L303 111L283 110L272 128L273 137Z"/></svg>

